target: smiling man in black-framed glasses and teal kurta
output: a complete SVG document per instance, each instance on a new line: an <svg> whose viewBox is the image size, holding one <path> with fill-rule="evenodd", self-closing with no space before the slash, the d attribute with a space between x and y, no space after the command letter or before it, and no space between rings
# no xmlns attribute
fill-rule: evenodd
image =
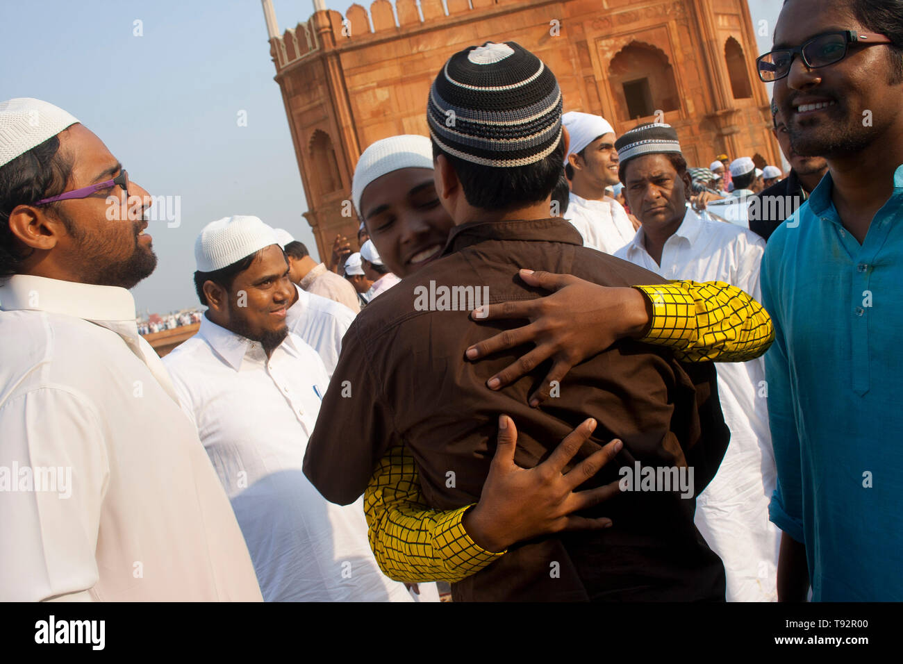
<svg viewBox="0 0 903 664"><path fill-rule="evenodd" d="M829 168L762 262L778 593L903 600L903 2L787 0L759 76Z"/></svg>

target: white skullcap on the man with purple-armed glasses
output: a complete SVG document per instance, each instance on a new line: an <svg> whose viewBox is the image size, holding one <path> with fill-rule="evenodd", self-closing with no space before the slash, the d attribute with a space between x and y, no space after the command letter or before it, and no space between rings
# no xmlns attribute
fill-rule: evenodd
<svg viewBox="0 0 903 664"><path fill-rule="evenodd" d="M78 122L62 108L41 99L0 101L0 166Z"/></svg>

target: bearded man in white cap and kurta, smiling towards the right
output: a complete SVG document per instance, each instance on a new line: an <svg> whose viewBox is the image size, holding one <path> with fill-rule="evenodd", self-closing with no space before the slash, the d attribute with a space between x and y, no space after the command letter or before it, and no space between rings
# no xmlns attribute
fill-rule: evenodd
<svg viewBox="0 0 903 664"><path fill-rule="evenodd" d="M302 472L329 377L286 323L295 287L275 232L212 221L194 246L200 330L164 358L228 493L265 601L410 601L380 572L358 500L325 500Z"/></svg>

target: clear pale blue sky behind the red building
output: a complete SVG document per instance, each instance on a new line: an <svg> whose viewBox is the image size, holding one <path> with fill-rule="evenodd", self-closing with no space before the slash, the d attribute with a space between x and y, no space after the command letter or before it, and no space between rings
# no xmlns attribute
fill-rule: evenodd
<svg viewBox="0 0 903 664"><path fill-rule="evenodd" d="M280 31L313 11L312 0L274 5ZM760 51L780 5L749 0L754 25L768 21ZM140 312L197 304L194 239L211 220L255 214L316 252L260 0L3 0L0 25L0 99L65 108L148 192L181 197L181 226L148 229L159 263L133 291Z"/></svg>

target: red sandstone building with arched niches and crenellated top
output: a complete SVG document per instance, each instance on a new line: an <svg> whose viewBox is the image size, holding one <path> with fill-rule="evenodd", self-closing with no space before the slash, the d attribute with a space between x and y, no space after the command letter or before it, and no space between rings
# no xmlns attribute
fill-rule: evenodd
<svg viewBox="0 0 903 664"><path fill-rule="evenodd" d="M554 71L564 110L620 134L657 117L691 165L716 154L780 164L746 0L376 0L318 11L270 40L321 257L356 238L358 156L396 134L429 136L426 96L455 51L514 41ZM352 242L354 240L352 239Z"/></svg>

